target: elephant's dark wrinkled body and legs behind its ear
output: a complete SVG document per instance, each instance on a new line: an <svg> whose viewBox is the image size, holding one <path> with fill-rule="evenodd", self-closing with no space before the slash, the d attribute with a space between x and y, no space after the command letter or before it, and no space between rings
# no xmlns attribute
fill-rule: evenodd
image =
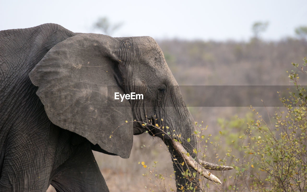
<svg viewBox="0 0 307 192"><path fill-rule="evenodd" d="M90 142L51 123L29 79L54 45L74 35L56 24L0 32L0 191L45 191L50 183L57 191L107 189ZM72 175L80 179L68 182Z"/></svg>

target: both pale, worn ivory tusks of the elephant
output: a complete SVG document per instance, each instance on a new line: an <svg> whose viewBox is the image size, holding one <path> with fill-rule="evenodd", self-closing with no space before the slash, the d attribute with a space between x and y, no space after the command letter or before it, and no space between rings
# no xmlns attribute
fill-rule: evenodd
<svg viewBox="0 0 307 192"><path fill-rule="evenodd" d="M174 141L173 139L171 139L170 142L171 142L171 145L173 146L174 150L176 150L177 153L181 155L181 157L184 159L186 164L188 164L191 168L193 168L200 175L202 175L203 177L205 177L205 178L207 178L207 179L209 179L213 182L222 184L220 179L218 179L215 175L213 175L207 169L218 170L218 171L233 169L233 167L220 166L220 165L208 163L208 162L202 161L202 160L198 160L198 162L197 162L191 156L187 155L187 151L180 144L180 142Z"/></svg>

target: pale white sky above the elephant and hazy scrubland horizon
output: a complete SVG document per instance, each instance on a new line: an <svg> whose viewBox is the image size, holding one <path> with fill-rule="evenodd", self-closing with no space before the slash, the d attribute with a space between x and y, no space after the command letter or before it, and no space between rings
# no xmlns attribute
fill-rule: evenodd
<svg viewBox="0 0 307 192"><path fill-rule="evenodd" d="M108 17L122 27L112 36L155 39L249 40L255 21L268 21L266 40L294 37L307 25L306 0L0 0L0 30L56 23L73 32L98 32L93 23Z"/></svg>

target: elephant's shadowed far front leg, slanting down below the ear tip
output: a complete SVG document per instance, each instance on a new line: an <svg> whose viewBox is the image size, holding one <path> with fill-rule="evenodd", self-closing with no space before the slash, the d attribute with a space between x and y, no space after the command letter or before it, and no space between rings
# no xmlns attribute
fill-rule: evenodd
<svg viewBox="0 0 307 192"><path fill-rule="evenodd" d="M52 175L51 185L57 192L109 191L88 141L77 146Z"/></svg>

